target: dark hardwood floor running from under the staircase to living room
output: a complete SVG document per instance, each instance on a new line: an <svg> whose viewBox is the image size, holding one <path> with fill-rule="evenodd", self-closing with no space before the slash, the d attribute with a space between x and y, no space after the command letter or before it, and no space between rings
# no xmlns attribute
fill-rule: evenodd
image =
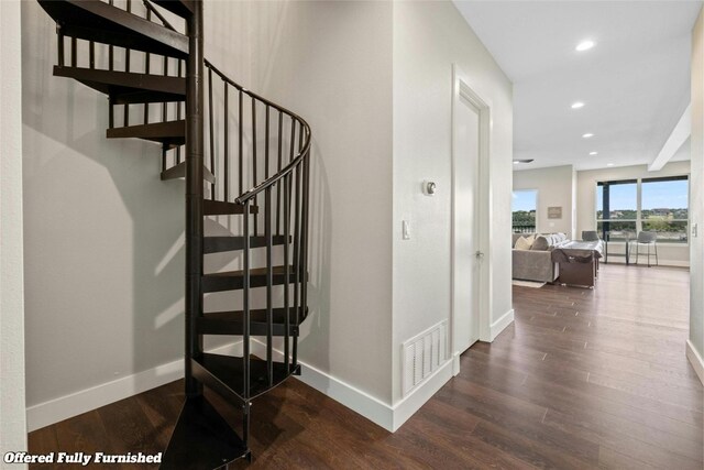
<svg viewBox="0 0 704 470"><path fill-rule="evenodd" d="M514 286L514 307L515 324L465 352L395 434L296 380L257 398L249 467L704 467L688 271L603 265L595 289ZM182 401L174 382L31 433L30 450L157 452Z"/></svg>

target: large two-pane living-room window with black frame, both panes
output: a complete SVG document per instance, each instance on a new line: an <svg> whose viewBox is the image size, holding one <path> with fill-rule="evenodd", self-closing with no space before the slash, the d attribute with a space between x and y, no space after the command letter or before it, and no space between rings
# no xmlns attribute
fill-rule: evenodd
<svg viewBox="0 0 704 470"><path fill-rule="evenodd" d="M660 242L686 243L688 195L686 176L600 182L596 229L612 241L634 239L646 230L658 232Z"/></svg>

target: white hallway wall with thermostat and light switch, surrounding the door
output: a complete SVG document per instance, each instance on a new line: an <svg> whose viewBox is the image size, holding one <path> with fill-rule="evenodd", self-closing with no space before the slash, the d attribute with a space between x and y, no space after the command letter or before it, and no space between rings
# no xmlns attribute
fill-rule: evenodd
<svg viewBox="0 0 704 470"><path fill-rule="evenodd" d="M491 105L488 317L512 313L512 84L450 2L394 3L394 404L402 343L450 317L452 64ZM433 197L420 184L437 183ZM402 240L402 220L411 239Z"/></svg>

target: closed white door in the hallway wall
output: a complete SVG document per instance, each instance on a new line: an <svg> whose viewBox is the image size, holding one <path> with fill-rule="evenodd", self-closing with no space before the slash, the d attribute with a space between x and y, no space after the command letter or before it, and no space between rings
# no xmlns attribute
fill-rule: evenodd
<svg viewBox="0 0 704 470"><path fill-rule="evenodd" d="M480 339L477 234L480 109L462 91L454 113L454 353Z"/></svg>

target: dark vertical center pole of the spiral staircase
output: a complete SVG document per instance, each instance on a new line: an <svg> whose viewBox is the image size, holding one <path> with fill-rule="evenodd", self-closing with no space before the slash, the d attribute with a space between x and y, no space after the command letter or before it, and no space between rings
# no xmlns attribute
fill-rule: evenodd
<svg viewBox="0 0 704 470"><path fill-rule="evenodd" d="M202 315L202 164L204 164L204 54L202 1L194 1L188 19L186 64L186 395L202 394L193 376L191 360L202 353L196 319Z"/></svg>

